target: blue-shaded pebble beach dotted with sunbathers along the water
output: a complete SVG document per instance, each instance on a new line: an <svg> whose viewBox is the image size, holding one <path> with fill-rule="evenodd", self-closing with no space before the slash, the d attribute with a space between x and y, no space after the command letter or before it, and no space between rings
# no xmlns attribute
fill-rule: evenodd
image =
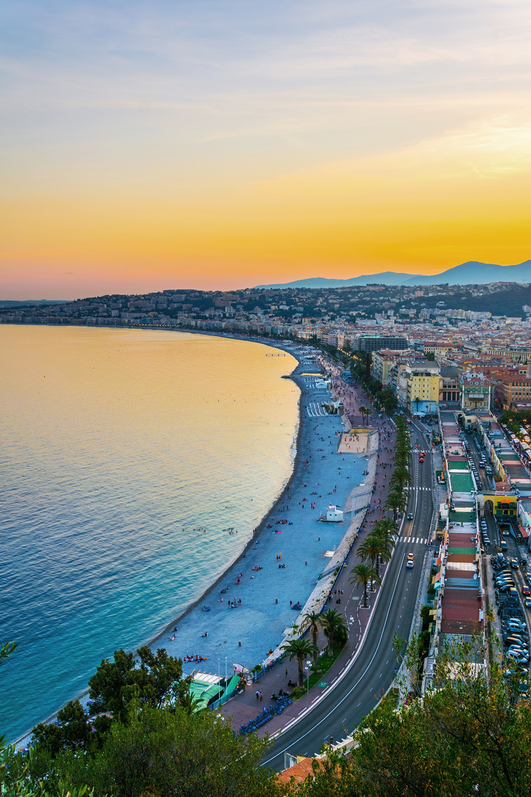
<svg viewBox="0 0 531 797"><path fill-rule="evenodd" d="M327 505L345 506L352 489L365 480L362 473L367 461L359 455L338 454L344 430L338 415L307 414L306 406L330 400L330 393L315 387L316 380L303 376L303 371L307 363L292 375L301 389L301 411L298 457L288 489L221 581L170 626L177 629L174 633L169 630L153 643L154 649L165 647L183 660L196 654L206 659L185 662L185 674L219 669L225 675L225 666L230 674L234 662L248 669L264 662L299 615L291 611L291 605L304 605L318 575L330 563L325 553L338 546L349 528L349 514L337 524L319 523L318 517Z"/></svg>

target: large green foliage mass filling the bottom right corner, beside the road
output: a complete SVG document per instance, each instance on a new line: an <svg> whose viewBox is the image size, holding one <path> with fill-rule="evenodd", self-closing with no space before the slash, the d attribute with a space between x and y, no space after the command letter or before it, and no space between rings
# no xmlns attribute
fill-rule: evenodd
<svg viewBox="0 0 531 797"><path fill-rule="evenodd" d="M298 797L529 797L529 701L518 673L494 662L487 679L483 655L477 641L444 650L433 688L399 709L382 701L349 757L316 760Z"/></svg>

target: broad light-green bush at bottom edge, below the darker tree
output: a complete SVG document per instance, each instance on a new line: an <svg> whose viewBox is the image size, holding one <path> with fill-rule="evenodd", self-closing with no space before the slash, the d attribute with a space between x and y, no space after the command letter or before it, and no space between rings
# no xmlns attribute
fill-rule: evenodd
<svg viewBox="0 0 531 797"><path fill-rule="evenodd" d="M258 762L268 746L256 734L236 738L221 714L141 708L135 699L95 755L57 756L45 787L55 791L68 779L91 783L95 797L267 797L275 793L273 773Z"/></svg>

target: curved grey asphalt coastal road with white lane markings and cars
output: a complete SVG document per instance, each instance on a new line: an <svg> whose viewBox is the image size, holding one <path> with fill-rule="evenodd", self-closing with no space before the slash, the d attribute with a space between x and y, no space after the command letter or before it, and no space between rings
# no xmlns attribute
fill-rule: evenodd
<svg viewBox="0 0 531 797"><path fill-rule="evenodd" d="M395 633L408 638L411 630L426 552L426 544L418 540L427 539L433 513L431 454L427 453L424 465L419 465L415 445L418 442L420 449L427 452L430 447L420 430L413 426L411 429L413 489L408 512L413 512L413 520L404 521L365 642L342 681L275 740L261 762L267 767L280 771L284 768L285 752L314 756L330 737L334 742L344 738L377 705L395 677L396 653L392 640ZM416 564L407 569L405 562L410 552L415 554Z"/></svg>

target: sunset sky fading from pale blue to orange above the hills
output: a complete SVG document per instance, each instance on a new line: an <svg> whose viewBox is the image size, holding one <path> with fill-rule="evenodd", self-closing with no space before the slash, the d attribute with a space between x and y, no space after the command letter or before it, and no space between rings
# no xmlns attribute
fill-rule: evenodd
<svg viewBox="0 0 531 797"><path fill-rule="evenodd" d="M531 257L526 0L0 18L0 298Z"/></svg>

